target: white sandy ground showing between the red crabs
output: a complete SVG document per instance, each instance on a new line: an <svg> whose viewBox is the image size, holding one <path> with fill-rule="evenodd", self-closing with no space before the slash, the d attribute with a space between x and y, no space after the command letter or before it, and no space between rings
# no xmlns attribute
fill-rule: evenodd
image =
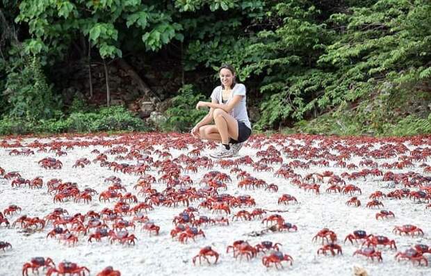
<svg viewBox="0 0 431 276"><path fill-rule="evenodd" d="M105 137L104 140L115 140L120 138L116 137ZM160 136L155 139L161 145L156 145L155 149L162 149L162 145L166 145L168 141L172 142L173 139L184 139L189 140L189 136ZM101 140L99 136L87 138L74 138L74 142L79 140ZM171 140L168 140L171 139ZM34 138L26 138L22 140L24 147L28 145ZM70 139L67 138L45 138L39 139L42 143L49 143L54 140L67 142ZM261 149L253 148L256 145L254 142L260 140L263 145ZM346 139L347 140L347 139ZM6 140L12 144L15 139ZM133 138L129 140L129 143L122 143L130 149L131 145L137 145L138 141L147 143L148 140L145 136L140 138ZM319 144L322 142L322 144ZM373 143L369 150L379 149L382 145L387 143L384 140L380 140L381 143ZM122 141L124 142L124 140ZM347 145L344 143L345 140L341 140L340 144ZM362 143L363 142L363 143ZM365 141L352 143L357 147L368 145ZM394 144L394 143L392 143ZM121 145L121 144L119 144ZM292 137L285 138L263 138L254 136L243 149L241 149L240 156L248 155L252 157L254 161L259 161L256 153L259 150L266 149L268 145L274 145L277 149L282 149L282 145L291 146L291 149L302 149L304 145L303 139L296 139ZM327 145L327 138L316 139L314 146ZM422 145L414 146L409 143L408 140L404 142L410 151L416 149L418 146L430 148L430 140L423 140ZM49 149L49 147L47 147ZM123 174L122 172L113 172L108 168L101 168L99 163L91 163L85 168L72 168L76 159L86 157L93 160L97 154L90 153L93 149L99 149L100 152L104 152L108 147L102 147L101 145L84 147L74 147L74 149L65 149L67 156L55 156L54 152L51 153L37 153L36 149L34 155L31 156L10 156L8 153L12 148L1 148L0 147L0 167L10 171L18 171L22 174L25 179L33 179L34 177L41 176L44 180L44 186L42 189L31 190L28 187L16 188L11 187L10 180L3 179L0 177L0 211L3 211L10 204L16 204L22 208L22 212L13 216L7 216L10 224L17 220L19 216L38 216L44 217L48 213L54 210L56 207L62 207L67 209L70 214L74 213L86 213L89 210L101 211L104 207L113 208L116 200L111 203L99 202L98 195L93 197L90 204L74 203L73 200L64 203L53 203L53 195L47 193L46 181L53 178L63 179L63 181L76 182L79 188L83 189L86 187L94 188L99 193L106 190L109 184L104 183L106 177L115 175L122 179L122 184L127 186L127 191L136 194L137 190L133 190L133 186L137 183L138 176L134 174ZM17 147L17 149L21 149ZM188 145L188 150L182 149L170 149L170 153L175 158L179 154L187 154L193 145ZM204 151L206 154L209 149ZM331 147L332 154L338 154L334 147ZM203 153L204 154L204 153ZM400 155L400 154L399 154ZM409 155L406 152L402 155ZM63 169L61 170L45 170L40 168L38 161L44 157L54 157L63 162ZM158 157L156 154L152 155L154 160ZM284 163L289 163L293 159L288 159L282 154ZM114 161L115 156L108 154L108 161ZM319 158L320 160L322 158ZM314 159L314 160L319 160ZM372 158L371 158L372 159ZM300 161L307 161L306 159L298 159ZM352 159L347 160L346 163L355 163L359 165L362 160L361 156L352 156ZM377 163L382 164L384 162L393 163L398 159L372 159ZM430 159L428 159L429 161ZM136 160L133 161L117 161L118 163L131 163L136 164ZM423 175L427 175L423 172L423 168L419 165L423 163L414 162L414 168L404 168L402 170L393 169L393 172L418 172ZM280 165L273 164L274 171L277 170ZM22 265L31 260L32 257L51 257L56 264L60 261L73 261L78 263L79 266L86 266L90 269L90 275L96 275L106 266L113 266L116 270L120 270L122 275L353 275L353 267L359 266L365 268L369 275L431 275L429 267L418 267L413 266L411 262L402 261L398 263L394 256L396 250L389 250L389 248L380 248L382 250L383 262L377 263L372 262L364 257L353 257L352 254L355 250L359 249L360 245L351 245L350 243L343 243L346 235L352 233L354 230L363 229L367 234L377 234L388 236L396 241L396 245L399 251L404 251L412 245L417 243L423 243L431 246L430 235L431 235L431 224L430 215L431 209L425 209L427 204L415 204L413 200L404 198L402 200L382 200L384 209L393 211L395 213L395 219L389 220L375 220L375 213L378 209L366 208L366 203L369 202L368 197L375 190L382 190L384 193L396 188L404 188L400 185L391 188L391 181L382 181L382 177L371 177L368 176L366 179L357 179L355 181L348 181L345 179L347 184L355 184L362 190L362 195L358 195L362 205L357 208L353 206L346 206L345 202L350 198L350 195L341 195L339 193L328 194L325 193L327 184L322 184L320 187L320 195L314 193L305 192L304 190L290 184L290 179L276 178L273 177L273 172L254 172L253 168L247 165L241 165L241 169L250 172L252 176L264 179L268 184L274 183L279 186L277 193L269 193L263 189L256 190L243 190L237 188L238 180L235 174L231 174L233 179L232 183L228 183L228 190L220 190L220 193L229 193L234 196L238 195L251 195L257 203L257 208L270 209L270 210L285 210L286 213L281 214L286 222L291 222L298 226L298 232L276 232L266 234L264 236L252 237L246 236L245 234L252 231L260 231L264 228L261 224L261 220L242 222L234 221L230 222L229 226L208 226L202 227L205 232L206 238L198 237L196 241L188 241L186 244L179 243L179 241L173 241L170 237L170 230L174 228L172 219L177 216L184 206L177 208L168 208L165 206L154 206L155 210L149 212L148 216L151 218L156 225L161 227L161 232L158 236L149 236L147 232L141 232L140 229L136 231L131 230L136 234L138 241L136 245L127 246L115 243L111 245L106 238L103 238L101 242L88 243L88 236L79 236L79 242L74 247L69 247L63 243L58 243L55 238L45 238L47 232L51 231L54 227L47 225L42 232L36 232L29 236L24 235L20 227L6 228L4 225L0 227L0 241L6 241L13 245L12 250L8 249L6 252L0 251L0 275L22 275ZM365 167L364 167L365 168ZM335 174L340 175L342 172L353 172L359 171L363 168L359 167L357 170L347 170L345 168L334 167L334 161L330 161L329 167L319 167L311 165L309 169L304 170L301 168L294 168L295 173L305 174L311 172L323 172L325 170L332 170ZM152 168L149 174L159 177L157 174L157 168ZM220 172L226 172L229 174L228 169L222 169L219 165L215 165L213 170L219 170ZM383 172L387 170L380 168ZM199 181L202 179L203 174L208 172L208 169L200 168L197 173L189 173L192 177L194 184L193 186L199 188ZM183 173L186 174L186 173ZM428 174L430 176L430 174ZM327 178L325 178L327 181ZM162 191L166 188L165 184L153 184L153 188L158 191ZM417 188L412 188L417 190ZM288 193L295 196L299 204L293 205L278 205L277 199L283 193ZM143 201L144 197L138 197L138 200ZM197 206L200 202L193 202L191 206ZM133 206L133 204L131 204ZM233 208L231 209L231 216L241 209L247 209L252 211L254 208ZM268 215L273 213L268 213ZM215 215L206 209L200 209L200 215L215 217ZM229 219L231 219L229 216ZM130 219L126 217L126 219ZM423 229L425 235L423 237L411 236L399 236L392 233L392 229L395 225L412 224ZM332 229L338 236L338 243L343 248L342 256L322 256L317 255L316 252L321 246L321 243L313 243L313 238L316 233L323 227ZM261 241L273 241L282 243L281 250L286 254L290 254L293 257L293 266L284 265L284 270L276 270L274 267L266 268L263 266L261 259L263 254L259 254L257 258L252 261L236 260L232 257L231 253L226 253L226 248L236 240L247 240L250 244L256 245ZM211 245L214 250L220 253L220 260L216 265L208 266L206 263L202 266L193 266L192 257L199 252L200 248ZM428 261L431 261L431 254L425 254ZM30 273L31 275L31 273Z"/></svg>

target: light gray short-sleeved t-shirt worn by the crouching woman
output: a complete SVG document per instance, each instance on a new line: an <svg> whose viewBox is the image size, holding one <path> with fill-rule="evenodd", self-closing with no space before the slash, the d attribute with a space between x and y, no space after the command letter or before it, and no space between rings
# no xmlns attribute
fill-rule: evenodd
<svg viewBox="0 0 431 276"><path fill-rule="evenodd" d="M222 101L222 86L217 86L216 88L214 88L213 93L211 94L211 99L215 99L218 104L223 104ZM235 95L240 95L243 96L241 99L241 102L239 102L238 104L236 104L236 106L234 108L232 108L231 112L229 112L229 114L234 117L236 120L240 121L240 122L244 122L244 124L252 129L252 124L250 123L250 120L248 119L248 115L247 115L247 106L245 106L245 86L243 85L243 83L236 83L236 85L234 86L234 89L231 92L231 95L229 97L229 99L227 99L227 102L225 104L229 104L229 102L231 101L231 99L234 98Z"/></svg>

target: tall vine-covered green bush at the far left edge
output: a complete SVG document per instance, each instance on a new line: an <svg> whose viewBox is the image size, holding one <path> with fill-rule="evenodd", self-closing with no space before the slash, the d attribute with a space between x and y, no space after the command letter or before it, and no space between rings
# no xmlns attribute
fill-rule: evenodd
<svg viewBox="0 0 431 276"><path fill-rule="evenodd" d="M51 118L58 109L52 86L47 83L36 56L25 57L22 70L19 67L10 70L3 94L10 104L9 115L29 122Z"/></svg>

